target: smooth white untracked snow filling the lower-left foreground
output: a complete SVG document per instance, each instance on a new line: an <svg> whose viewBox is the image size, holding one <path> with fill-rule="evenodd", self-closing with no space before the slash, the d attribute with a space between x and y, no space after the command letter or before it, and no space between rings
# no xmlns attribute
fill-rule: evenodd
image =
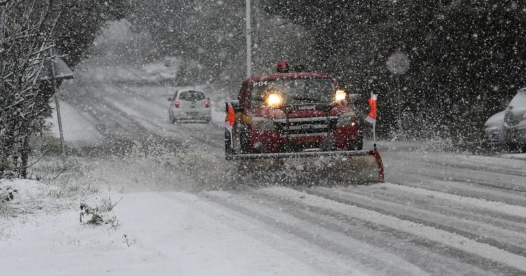
<svg viewBox="0 0 526 276"><path fill-rule="evenodd" d="M38 210L48 190L37 181L10 181L21 191L12 203L32 214L0 223L0 266L14 275L322 275L282 252L294 242L268 244L250 221L196 195L137 192L123 195L111 214L118 227L79 223L79 210ZM112 197L120 197L112 194ZM214 212L210 212L214 210ZM225 220L230 223L224 223ZM243 227L239 227L243 226ZM167 231L168 230L168 231ZM298 247L298 245L295 245ZM255 250L257 249L257 250ZM315 249L304 254L319 254ZM327 256L319 255L327 259ZM360 273L350 264L341 268ZM325 269L329 270L329 266ZM329 270L330 271L330 270ZM341 271L341 270L338 270ZM361 273L360 273L361 274Z"/></svg>

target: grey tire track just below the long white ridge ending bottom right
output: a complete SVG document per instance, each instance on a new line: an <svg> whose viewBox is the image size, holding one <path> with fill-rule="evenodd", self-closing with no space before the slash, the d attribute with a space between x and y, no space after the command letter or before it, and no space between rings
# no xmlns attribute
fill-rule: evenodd
<svg viewBox="0 0 526 276"><path fill-rule="evenodd" d="M304 205L291 203L287 199L268 197L263 193L258 196L264 197L266 201L269 199L275 201L268 202L266 205L274 208L279 205L280 211L284 209L281 208L283 205L291 206L286 212L303 220L330 227L334 231L343 232L384 251L392 252L431 275L465 275L465 271L469 271L473 275L486 275L490 270L495 275L500 274L497 267L501 264L494 264L491 269L484 268L490 266L486 260L481 260L478 256L469 255L457 249L444 247L442 244L425 240L425 238L419 238L401 231L392 231L388 227L349 218L325 208L313 208L311 206L305 208Z"/></svg>

